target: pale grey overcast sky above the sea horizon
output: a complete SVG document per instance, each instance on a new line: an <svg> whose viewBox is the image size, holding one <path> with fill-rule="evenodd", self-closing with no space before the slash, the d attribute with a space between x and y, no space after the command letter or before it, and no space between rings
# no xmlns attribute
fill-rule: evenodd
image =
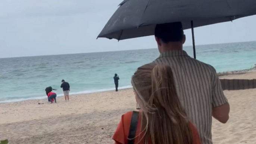
<svg viewBox="0 0 256 144"><path fill-rule="evenodd" d="M1 0L0 57L156 48L154 37L99 38L122 0ZM256 16L195 29L196 44L256 40ZM186 30L186 46L192 45Z"/></svg>

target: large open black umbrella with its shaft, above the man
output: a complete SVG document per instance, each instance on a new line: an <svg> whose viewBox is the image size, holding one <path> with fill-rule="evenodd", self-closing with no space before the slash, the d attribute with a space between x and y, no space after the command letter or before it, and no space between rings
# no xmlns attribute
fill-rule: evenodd
<svg viewBox="0 0 256 144"><path fill-rule="evenodd" d="M156 24L182 22L194 27L256 15L256 0L124 0L98 37L125 40L154 35Z"/></svg>

